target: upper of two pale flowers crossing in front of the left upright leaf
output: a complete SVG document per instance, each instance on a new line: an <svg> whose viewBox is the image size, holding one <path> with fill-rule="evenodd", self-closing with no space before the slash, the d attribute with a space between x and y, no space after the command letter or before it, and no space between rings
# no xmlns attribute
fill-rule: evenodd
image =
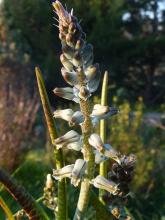
<svg viewBox="0 0 165 220"><path fill-rule="evenodd" d="M67 146L68 144L79 142L81 136L74 130L67 132L65 135L56 138L54 143L57 149Z"/></svg>

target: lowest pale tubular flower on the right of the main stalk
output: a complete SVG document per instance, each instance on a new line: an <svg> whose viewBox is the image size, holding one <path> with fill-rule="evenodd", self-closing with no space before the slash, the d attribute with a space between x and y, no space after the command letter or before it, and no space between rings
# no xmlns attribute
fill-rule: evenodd
<svg viewBox="0 0 165 220"><path fill-rule="evenodd" d="M107 180L103 176L97 176L95 179L92 180L92 183L96 188L104 189L113 195L117 195L119 192L118 184L113 181Z"/></svg>

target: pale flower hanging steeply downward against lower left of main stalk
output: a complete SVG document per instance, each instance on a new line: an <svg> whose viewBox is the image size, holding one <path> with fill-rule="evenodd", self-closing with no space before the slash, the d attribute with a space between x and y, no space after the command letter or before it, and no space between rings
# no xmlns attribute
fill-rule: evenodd
<svg viewBox="0 0 165 220"><path fill-rule="evenodd" d="M71 174L71 184L73 184L74 186L78 186L79 182L81 181L85 173L86 167L87 167L87 162L85 160L83 159L76 160Z"/></svg>

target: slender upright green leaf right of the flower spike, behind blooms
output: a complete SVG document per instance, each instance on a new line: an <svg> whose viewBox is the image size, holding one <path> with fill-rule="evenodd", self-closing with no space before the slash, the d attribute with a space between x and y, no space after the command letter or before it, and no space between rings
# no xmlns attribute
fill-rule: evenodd
<svg viewBox="0 0 165 220"><path fill-rule="evenodd" d="M107 98L108 98L108 72L105 71L103 84L102 84L102 92L101 92L101 105L107 105ZM106 120L100 121L100 137L103 140L103 143L106 141ZM107 161L104 161L100 164L99 174L101 176L107 177ZM99 199L104 204L102 199L104 195L104 190L99 190Z"/></svg>

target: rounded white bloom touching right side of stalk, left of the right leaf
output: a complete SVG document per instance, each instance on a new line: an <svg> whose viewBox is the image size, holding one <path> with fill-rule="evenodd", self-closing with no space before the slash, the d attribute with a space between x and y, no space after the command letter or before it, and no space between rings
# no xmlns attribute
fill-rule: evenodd
<svg viewBox="0 0 165 220"><path fill-rule="evenodd" d="M98 134L91 134L90 138L88 139L89 144L101 152L104 149L104 144L101 140L101 137Z"/></svg>

